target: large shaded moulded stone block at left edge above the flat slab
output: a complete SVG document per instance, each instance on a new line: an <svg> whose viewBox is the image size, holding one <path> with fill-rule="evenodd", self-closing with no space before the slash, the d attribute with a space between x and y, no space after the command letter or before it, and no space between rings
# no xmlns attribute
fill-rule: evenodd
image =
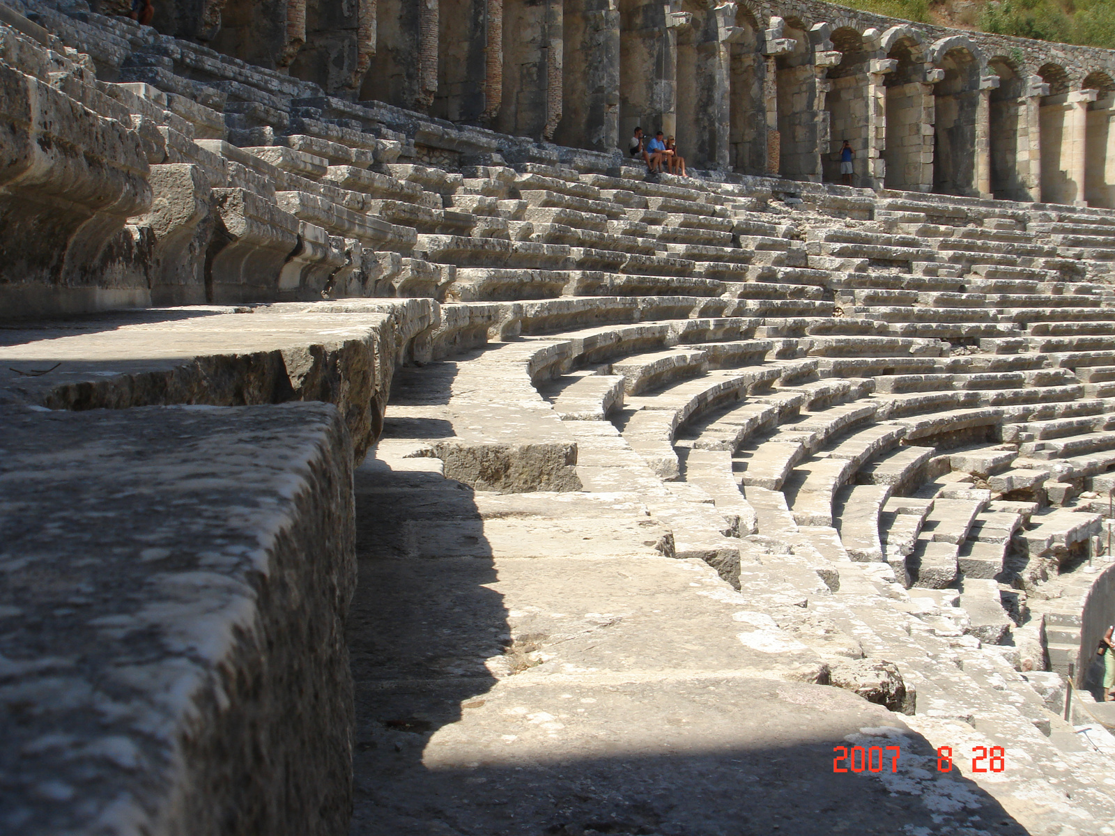
<svg viewBox="0 0 1115 836"><path fill-rule="evenodd" d="M151 205L139 135L7 64L0 117L6 312L146 302L149 242L125 229Z"/></svg>

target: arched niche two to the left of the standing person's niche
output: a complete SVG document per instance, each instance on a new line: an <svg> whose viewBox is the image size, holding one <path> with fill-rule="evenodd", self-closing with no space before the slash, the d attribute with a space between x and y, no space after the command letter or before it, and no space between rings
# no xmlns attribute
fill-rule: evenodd
<svg viewBox="0 0 1115 836"><path fill-rule="evenodd" d="M736 6L735 23L728 38L728 165L740 174L765 174L766 62L759 52L759 26L743 2Z"/></svg>

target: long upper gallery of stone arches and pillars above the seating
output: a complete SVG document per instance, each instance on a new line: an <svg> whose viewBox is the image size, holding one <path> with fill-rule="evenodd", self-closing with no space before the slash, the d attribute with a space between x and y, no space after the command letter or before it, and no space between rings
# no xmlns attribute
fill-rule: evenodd
<svg viewBox="0 0 1115 836"><path fill-rule="evenodd" d="M1115 207L1108 50L812 0L177 2L161 30L501 133L611 152L639 125L691 166L833 183L847 139L861 186Z"/></svg>

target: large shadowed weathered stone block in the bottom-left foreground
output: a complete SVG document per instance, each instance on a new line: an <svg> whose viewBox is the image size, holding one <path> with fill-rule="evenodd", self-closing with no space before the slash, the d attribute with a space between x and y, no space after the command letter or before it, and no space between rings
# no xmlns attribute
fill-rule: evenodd
<svg viewBox="0 0 1115 836"><path fill-rule="evenodd" d="M19 717L0 727L4 822L347 832L356 561L337 410L0 421L0 704Z"/></svg>

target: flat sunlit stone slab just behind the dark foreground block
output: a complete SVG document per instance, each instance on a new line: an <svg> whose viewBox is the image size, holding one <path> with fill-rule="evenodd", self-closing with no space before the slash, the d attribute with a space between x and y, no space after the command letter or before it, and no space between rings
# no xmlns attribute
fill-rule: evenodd
<svg viewBox="0 0 1115 836"><path fill-rule="evenodd" d="M321 400L345 417L357 457L379 435L400 334L428 300L195 305L0 329L0 404L123 409Z"/></svg>

